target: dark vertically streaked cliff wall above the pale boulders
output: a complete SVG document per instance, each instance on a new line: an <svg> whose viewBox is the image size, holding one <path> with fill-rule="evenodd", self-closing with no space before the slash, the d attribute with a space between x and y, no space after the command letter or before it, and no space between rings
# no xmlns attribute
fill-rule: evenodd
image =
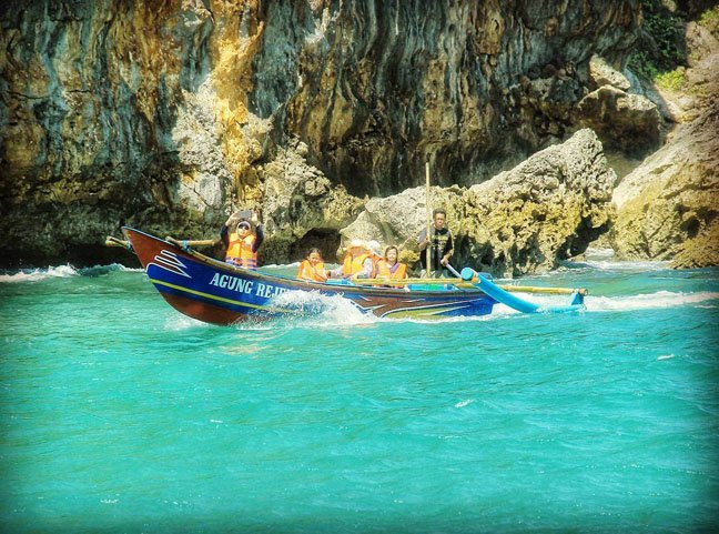
<svg viewBox="0 0 719 534"><path fill-rule="evenodd" d="M273 32L300 51L273 56L253 94L273 97L262 114L286 101L317 167L369 195L421 184L428 159L438 184L470 185L561 139L589 58L621 58L639 20L631 1L321 4Z"/></svg>

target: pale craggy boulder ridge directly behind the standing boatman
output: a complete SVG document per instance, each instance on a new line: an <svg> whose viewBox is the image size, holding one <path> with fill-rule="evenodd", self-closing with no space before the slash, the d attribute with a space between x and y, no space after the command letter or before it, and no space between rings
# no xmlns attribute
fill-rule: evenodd
<svg viewBox="0 0 719 534"><path fill-rule="evenodd" d="M447 211L455 266L516 276L556 268L586 250L614 215L615 172L590 130L580 130L512 171L469 189L432 189L432 206ZM373 199L343 238L397 244L416 261L416 235L426 225L424 188Z"/></svg>

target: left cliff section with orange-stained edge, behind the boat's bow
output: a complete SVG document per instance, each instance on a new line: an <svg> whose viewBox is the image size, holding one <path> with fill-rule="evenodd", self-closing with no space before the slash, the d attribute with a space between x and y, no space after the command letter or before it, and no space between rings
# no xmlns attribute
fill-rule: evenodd
<svg viewBox="0 0 719 534"><path fill-rule="evenodd" d="M3 261L103 261L122 224L216 232L236 169L215 120L232 95L207 77L234 16L199 2L2 2Z"/></svg>

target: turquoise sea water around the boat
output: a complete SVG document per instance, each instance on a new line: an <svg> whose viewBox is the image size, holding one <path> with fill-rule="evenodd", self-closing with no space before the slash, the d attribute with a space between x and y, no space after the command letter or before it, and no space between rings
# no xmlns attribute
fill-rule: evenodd
<svg viewBox="0 0 719 534"><path fill-rule="evenodd" d="M6 272L0 531L717 532L719 270L589 258L518 281L579 313L237 328Z"/></svg>

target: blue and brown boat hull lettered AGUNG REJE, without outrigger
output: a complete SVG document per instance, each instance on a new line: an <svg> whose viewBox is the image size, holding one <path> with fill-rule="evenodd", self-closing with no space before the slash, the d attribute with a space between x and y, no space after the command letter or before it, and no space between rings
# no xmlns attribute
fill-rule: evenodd
<svg viewBox="0 0 719 534"><path fill-rule="evenodd" d="M479 290L407 291L303 282L236 268L135 229L123 228L123 232L164 300L206 323L226 325L296 314L296 309L282 304L281 295L291 291L340 295L379 318L487 315L497 302Z"/></svg>

